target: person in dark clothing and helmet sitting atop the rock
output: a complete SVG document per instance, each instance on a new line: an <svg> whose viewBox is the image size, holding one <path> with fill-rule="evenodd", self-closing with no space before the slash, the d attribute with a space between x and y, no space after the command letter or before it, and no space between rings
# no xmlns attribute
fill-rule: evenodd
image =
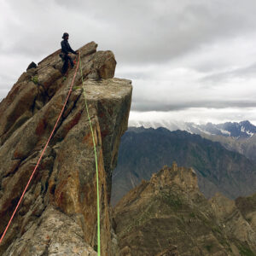
<svg viewBox="0 0 256 256"><path fill-rule="evenodd" d="M61 54L60 54L62 61L64 61L63 67L61 69L62 74L67 73L68 61L70 61L71 67L74 66L73 60L72 60L71 56L69 55L69 53L71 52L74 55L78 54L68 44L68 41L67 41L68 37L69 37L69 35L67 32L63 33L63 36L62 36L63 40L61 41Z"/></svg>

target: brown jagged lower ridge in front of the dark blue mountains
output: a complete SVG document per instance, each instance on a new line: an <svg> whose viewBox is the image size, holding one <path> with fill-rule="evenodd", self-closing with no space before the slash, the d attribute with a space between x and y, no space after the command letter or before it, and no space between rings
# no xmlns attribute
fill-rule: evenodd
<svg viewBox="0 0 256 256"><path fill-rule="evenodd" d="M255 198L207 200L192 168L164 166L114 208L120 255L255 255Z"/></svg>

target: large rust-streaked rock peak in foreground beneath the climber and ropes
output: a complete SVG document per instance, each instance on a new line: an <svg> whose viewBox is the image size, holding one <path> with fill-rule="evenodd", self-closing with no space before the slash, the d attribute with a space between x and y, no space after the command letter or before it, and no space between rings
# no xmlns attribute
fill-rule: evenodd
<svg viewBox="0 0 256 256"><path fill-rule="evenodd" d="M84 108L86 90L100 178L102 255L118 255L109 207L131 81L113 79L111 51L84 45L74 90L24 201L0 245L7 255L96 255L96 171ZM67 96L75 68L61 75L59 50L29 68L0 103L0 234L25 188Z"/></svg>

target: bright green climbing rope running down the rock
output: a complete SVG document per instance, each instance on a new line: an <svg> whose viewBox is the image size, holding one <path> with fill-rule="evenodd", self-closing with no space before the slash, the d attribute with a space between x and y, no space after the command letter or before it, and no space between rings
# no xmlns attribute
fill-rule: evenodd
<svg viewBox="0 0 256 256"><path fill-rule="evenodd" d="M83 78L83 71L81 66L81 55L79 52L79 67L80 67L80 73L81 73L81 79L82 79L82 85L83 85L83 92L84 92L84 105L87 112L87 117L90 124L90 132L93 142L93 148L94 148L94 154L95 154L95 166L96 166L96 190L97 190L97 253L98 256L101 256L101 218L100 218L100 193L99 193L99 172L98 172L98 160L97 160L97 153L96 153L96 142L94 138L94 132L92 129L91 119L90 119L90 113L89 108L86 100L86 92L85 92L85 86L84 86L84 78Z"/></svg>

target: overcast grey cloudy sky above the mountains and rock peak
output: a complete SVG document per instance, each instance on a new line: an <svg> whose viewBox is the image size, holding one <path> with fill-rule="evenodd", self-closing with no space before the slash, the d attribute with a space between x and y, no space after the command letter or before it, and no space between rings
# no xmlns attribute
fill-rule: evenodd
<svg viewBox="0 0 256 256"><path fill-rule="evenodd" d="M131 120L256 125L255 0L0 0L0 98L60 48L111 49L131 79Z"/></svg>

